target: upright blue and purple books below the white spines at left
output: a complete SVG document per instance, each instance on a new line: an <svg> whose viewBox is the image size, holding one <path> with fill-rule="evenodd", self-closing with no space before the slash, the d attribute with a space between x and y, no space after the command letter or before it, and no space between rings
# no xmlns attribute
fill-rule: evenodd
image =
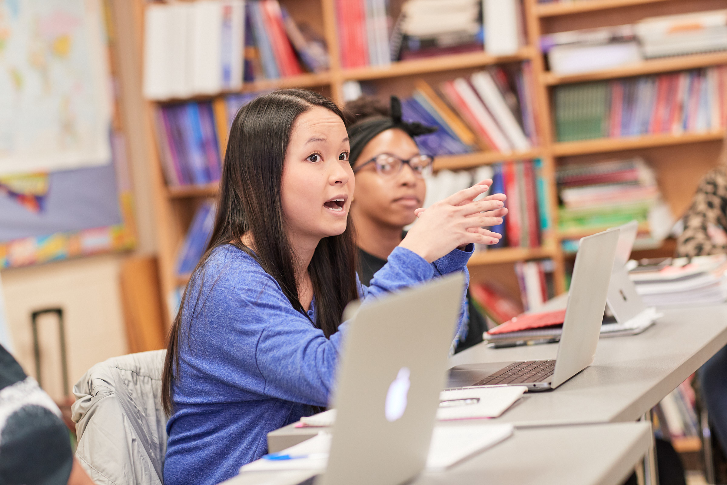
<svg viewBox="0 0 727 485"><path fill-rule="evenodd" d="M161 166L170 186L220 180L220 144L209 102L163 105L156 111Z"/></svg>

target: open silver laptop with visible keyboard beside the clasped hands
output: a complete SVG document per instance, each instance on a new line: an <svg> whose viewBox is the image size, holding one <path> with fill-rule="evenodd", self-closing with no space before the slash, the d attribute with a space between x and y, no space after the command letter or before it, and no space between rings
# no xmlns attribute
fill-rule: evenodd
<svg viewBox="0 0 727 485"><path fill-rule="evenodd" d="M550 390L590 366L618 241L618 228L581 239L555 359L455 366L449 369L448 388L526 385L529 390Z"/></svg>

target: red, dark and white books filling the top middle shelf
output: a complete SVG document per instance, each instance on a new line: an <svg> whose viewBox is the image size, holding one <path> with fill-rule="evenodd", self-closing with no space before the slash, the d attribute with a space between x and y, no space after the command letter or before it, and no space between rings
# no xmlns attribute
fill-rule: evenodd
<svg viewBox="0 0 727 485"><path fill-rule="evenodd" d="M489 52L513 55L526 43L521 0L409 0L394 20L386 0L337 0L341 65Z"/></svg>

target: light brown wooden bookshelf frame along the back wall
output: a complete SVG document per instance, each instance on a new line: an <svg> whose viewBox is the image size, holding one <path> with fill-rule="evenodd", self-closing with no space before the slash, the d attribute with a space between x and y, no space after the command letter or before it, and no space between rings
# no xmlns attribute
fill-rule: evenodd
<svg viewBox="0 0 727 485"><path fill-rule="evenodd" d="M139 49L142 49L143 14L147 2L144 0L133 0L133 2L138 24L136 35L140 39ZM668 160L668 163L665 162L664 167L683 167L683 163L680 164L680 160L675 159L675 157L683 156L685 152L684 145L688 145L688 152L699 157L699 164L690 164L690 166L696 167L694 170L703 171L704 167L712 164L711 158L710 161L704 161L704 157L714 156L716 145L723 136L722 133L714 132L686 133L683 135L649 135L557 143L555 142L555 127L550 101L553 89L561 84L642 76L727 64L727 52L647 60L637 65L628 65L593 73L558 76L545 71L544 57L539 51L539 38L542 32L569 31L577 28L598 27L599 25L632 23L638 20L632 17L637 13L642 17L646 17L648 15L663 15L668 9L674 9L674 13L691 7L694 10L704 10L712 8L715 0L690 0L688 4L675 0L582 0L552 4L538 4L537 0L523 0L527 44L515 55L493 56L486 52L470 52L422 60L406 60L392 63L387 67L356 69L343 69L340 66L337 39L337 28L340 28L340 25L337 23L334 0L281 0L281 2L289 7L293 17L304 17L311 25L316 26L319 33L325 37L329 47L329 55L331 56L330 71L245 83L241 89L242 92L285 87L322 89L322 92L330 95L336 103L342 105L342 86L348 80L371 81L377 86L377 89L381 89L382 93L389 89L391 92L408 94L414 89L414 80L418 77L438 82L442 79L450 79L446 78L450 72L451 77L454 77L466 73L467 70L474 70L487 65L523 60L531 61L535 81L534 100L532 102L537 112L536 122L540 146L522 153L478 152L459 156L440 156L435 160L435 170L472 169L499 161L539 158L542 160L543 176L547 181L547 190L549 192L547 204L551 217L551 228L558 228L558 194L555 186L555 169L563 161L600 161L610 156L609 153L624 152L644 156L647 160L652 154L667 159L671 156L672 159ZM141 62L142 52L137 52L137 54L139 62ZM224 94L220 93L220 95ZM220 95L208 96L204 99L209 100ZM186 284L185 278L177 278L174 274L174 261L194 211L201 201L216 196L218 188L217 184L185 187L166 186L159 161L159 151L156 146L158 140L153 135L155 133L153 113L158 104L157 102L147 103L144 128L150 134L151 143L148 148L148 159L154 167L152 183L158 231L158 260L162 294L170 295L177 286ZM664 151L673 151L675 154L670 155L670 153L667 153L664 155ZM691 194L694 191L694 188L696 188L694 180L698 180L702 175L701 173L694 174L694 177L692 177L694 180L686 185L680 185L682 180L675 180L675 177L683 177L683 174L683 171L680 172L680 175L659 172L657 176L660 185L665 183L665 187L671 188L672 197L683 199L686 197L685 194ZM675 188L678 188L678 190ZM670 200L667 200L667 202L670 202L672 207L680 208L684 205L684 201L681 199L678 202ZM679 215L675 214L675 216ZM470 268L478 268L476 273L486 273L487 268L493 268L493 270L499 268L497 269L499 271L510 265L510 272L512 272L513 262L550 257L553 259L555 267L556 292L561 293L566 289L565 257L561 249L561 240L586 236L593 232L595 231L581 231L580 233L546 231L543 234L543 246L540 248L490 249L475 254L470 260ZM499 274L497 271L493 274ZM474 273L475 271L473 271ZM513 296L519 298L518 295Z"/></svg>

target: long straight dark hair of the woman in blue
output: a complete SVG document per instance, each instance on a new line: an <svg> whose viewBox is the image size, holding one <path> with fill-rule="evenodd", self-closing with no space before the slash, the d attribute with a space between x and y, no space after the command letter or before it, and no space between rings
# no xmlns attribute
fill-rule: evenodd
<svg viewBox="0 0 727 485"><path fill-rule="evenodd" d="M281 180L293 123L313 106L327 108L343 119L340 109L331 100L305 89L281 89L262 95L235 116L222 167L220 200L212 236L185 288L180 310L169 331L161 381L161 400L168 414L173 412L172 381L179 369L182 326L189 339L189 329L199 313L201 300L204 307L200 293L206 277L205 265L217 246L233 244L254 257L278 281L293 308L307 316L298 300L295 255L286 236L281 204ZM248 231L252 234L254 250L242 243L242 237ZM311 323L330 337L340 325L345 306L358 297L356 244L350 218L344 233L321 239L308 265L308 274L316 298L316 321ZM196 301L191 302L188 293L195 286L199 293ZM186 307L192 304L193 308L188 311ZM186 324L182 324L184 315L189 316ZM188 341L188 345L191 342Z"/></svg>

